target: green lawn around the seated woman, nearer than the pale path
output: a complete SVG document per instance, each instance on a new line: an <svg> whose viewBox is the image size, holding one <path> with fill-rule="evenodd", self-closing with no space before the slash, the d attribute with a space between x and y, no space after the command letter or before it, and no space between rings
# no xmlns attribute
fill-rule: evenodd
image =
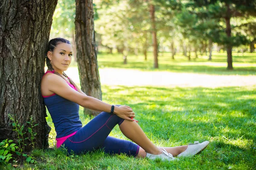
<svg viewBox="0 0 256 170"><path fill-rule="evenodd" d="M256 167L256 86L227 88L159 88L102 86L103 101L129 105L151 141L178 146L210 141L199 155L178 161L152 161L101 151L67 156L65 151L35 150L38 162L23 169L241 169ZM91 117L80 110L81 121ZM53 127L51 118L47 121ZM126 139L118 126L111 136ZM54 140L54 133L50 138ZM53 147L53 145L51 145ZM11 167L9 167L11 169ZM9 169L7 167L7 169Z"/></svg>

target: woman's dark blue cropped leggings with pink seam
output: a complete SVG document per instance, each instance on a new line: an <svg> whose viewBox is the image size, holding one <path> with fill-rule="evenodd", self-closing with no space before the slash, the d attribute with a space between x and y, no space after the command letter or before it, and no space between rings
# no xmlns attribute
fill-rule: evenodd
<svg viewBox="0 0 256 170"><path fill-rule="evenodd" d="M87 125L81 127L75 135L71 136L62 144L70 153L86 153L95 149L103 149L105 153L137 156L139 145L133 142L108 136L111 130L124 119L116 114L102 112L93 118Z"/></svg>

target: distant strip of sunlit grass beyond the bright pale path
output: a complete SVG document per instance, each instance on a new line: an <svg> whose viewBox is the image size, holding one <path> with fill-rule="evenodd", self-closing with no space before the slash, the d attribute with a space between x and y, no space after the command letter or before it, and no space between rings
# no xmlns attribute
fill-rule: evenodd
<svg viewBox="0 0 256 170"><path fill-rule="evenodd" d="M141 71L171 71L200 74L217 74L217 75L256 75L256 53L235 53L233 52L234 70L227 70L227 54L212 53L212 61L208 61L208 56L198 56L195 59L192 53L191 61L187 57L177 54L175 60L172 59L171 53L159 53L159 69L153 68L153 55L148 52L148 60L144 60L142 54L127 57L128 64L123 64L121 54L98 54L99 68L128 68ZM244 56L243 56L244 55ZM76 65L74 62L73 65Z"/></svg>

